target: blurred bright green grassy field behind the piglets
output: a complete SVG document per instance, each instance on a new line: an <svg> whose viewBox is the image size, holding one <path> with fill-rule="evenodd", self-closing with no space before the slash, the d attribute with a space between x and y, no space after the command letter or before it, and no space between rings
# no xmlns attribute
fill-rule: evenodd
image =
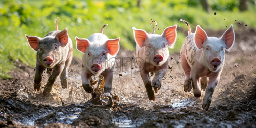
<svg viewBox="0 0 256 128"><path fill-rule="evenodd" d="M249 10L240 12L239 2L236 0L209 0L212 12L203 11L199 1L190 0L142 0L141 7L137 7L134 0L2 0L0 1L0 77L10 78L8 74L15 69L12 61L21 61L31 67L35 66L36 52L31 49L25 38L29 36L43 37L55 29L54 19L60 17L59 29L68 29L68 34L75 47L75 36L88 38L92 33L100 32L102 25L110 39L120 37L121 47L134 50L132 27L144 29L148 32L153 30L151 20L156 20L159 28L166 28L177 24L187 29L184 23L179 22L182 18L191 24L192 31L196 25L203 29L226 29L226 26L238 22L247 24L248 27L256 28L255 3L249 1ZM214 12L217 12L214 15ZM235 21L236 20L236 21ZM161 34L161 30L156 30ZM179 52L184 38L178 31L174 49L170 53ZM74 56L82 54L74 49Z"/></svg>

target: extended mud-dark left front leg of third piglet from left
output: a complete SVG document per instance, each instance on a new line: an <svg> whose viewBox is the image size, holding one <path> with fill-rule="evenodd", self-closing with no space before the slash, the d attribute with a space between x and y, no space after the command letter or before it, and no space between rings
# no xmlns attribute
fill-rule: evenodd
<svg viewBox="0 0 256 128"><path fill-rule="evenodd" d="M146 91L147 91L149 100L155 100L155 91L153 90L153 87L151 86L149 72L147 72L145 70L140 70L140 75L141 75L141 78L146 87Z"/></svg>

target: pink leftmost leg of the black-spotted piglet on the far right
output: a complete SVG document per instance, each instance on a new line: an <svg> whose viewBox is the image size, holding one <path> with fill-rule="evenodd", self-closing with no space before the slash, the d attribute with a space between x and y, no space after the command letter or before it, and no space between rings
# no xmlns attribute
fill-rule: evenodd
<svg viewBox="0 0 256 128"><path fill-rule="evenodd" d="M184 91L185 92L190 92L191 89L192 89L192 84L191 84L191 79L190 79L190 71L191 71L191 68L185 58L185 55L181 53L181 56L180 56L180 59L181 59L181 66L182 66L182 69L184 71L184 74L185 74L185 82L184 82Z"/></svg>

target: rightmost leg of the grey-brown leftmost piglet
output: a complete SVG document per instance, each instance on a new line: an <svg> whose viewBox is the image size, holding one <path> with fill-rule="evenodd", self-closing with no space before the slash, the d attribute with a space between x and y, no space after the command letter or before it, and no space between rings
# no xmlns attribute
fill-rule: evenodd
<svg viewBox="0 0 256 128"><path fill-rule="evenodd" d="M69 68L69 65L71 63L71 60L72 60L72 57L71 59L67 59L66 62L65 62L65 67L61 73L61 87L62 88L67 88L68 87L68 68Z"/></svg>

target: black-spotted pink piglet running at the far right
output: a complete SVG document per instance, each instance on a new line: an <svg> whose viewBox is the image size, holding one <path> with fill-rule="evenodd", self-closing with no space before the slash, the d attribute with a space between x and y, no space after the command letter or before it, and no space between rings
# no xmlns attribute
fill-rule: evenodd
<svg viewBox="0 0 256 128"><path fill-rule="evenodd" d="M199 25L195 33L191 33L189 24L185 20L180 21L185 22L189 28L189 35L180 50L181 66L185 74L184 91L190 92L193 88L194 96L200 97L201 85L208 84L202 105L203 109L208 110L224 67L225 49L230 51L234 45L233 25L220 38L216 38L208 37Z"/></svg>

